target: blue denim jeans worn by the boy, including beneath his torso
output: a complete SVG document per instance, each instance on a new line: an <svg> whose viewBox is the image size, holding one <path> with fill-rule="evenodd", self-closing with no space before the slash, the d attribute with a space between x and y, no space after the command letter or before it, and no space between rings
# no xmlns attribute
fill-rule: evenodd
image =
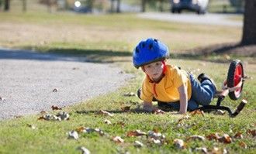
<svg viewBox="0 0 256 154"><path fill-rule="evenodd" d="M192 96L188 101L188 110L192 111L196 108L199 108L199 105L208 105L213 101L213 96L216 92L216 87L210 80L203 80L202 83L199 83L195 80L195 77L192 74L189 74L191 87L192 87ZM138 96L140 98L140 90L138 91ZM157 100L153 100L157 101ZM179 102L162 102L158 101L159 106L171 107L175 110L179 110Z"/></svg>

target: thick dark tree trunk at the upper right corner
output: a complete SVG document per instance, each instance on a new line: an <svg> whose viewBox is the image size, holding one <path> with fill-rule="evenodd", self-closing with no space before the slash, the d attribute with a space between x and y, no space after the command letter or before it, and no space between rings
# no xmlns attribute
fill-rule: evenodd
<svg viewBox="0 0 256 154"><path fill-rule="evenodd" d="M242 45L256 44L256 0L246 0Z"/></svg>

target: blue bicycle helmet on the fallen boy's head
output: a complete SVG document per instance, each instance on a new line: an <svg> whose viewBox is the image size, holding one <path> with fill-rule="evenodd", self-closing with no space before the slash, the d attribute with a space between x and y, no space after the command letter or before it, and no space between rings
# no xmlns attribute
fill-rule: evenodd
<svg viewBox="0 0 256 154"><path fill-rule="evenodd" d="M133 50L133 66L139 68L148 63L165 60L168 57L168 47L164 43L153 38L144 39Z"/></svg>

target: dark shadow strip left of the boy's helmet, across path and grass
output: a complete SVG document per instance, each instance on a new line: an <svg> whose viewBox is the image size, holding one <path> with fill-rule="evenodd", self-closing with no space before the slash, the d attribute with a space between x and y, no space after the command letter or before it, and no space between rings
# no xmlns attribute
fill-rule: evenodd
<svg viewBox="0 0 256 154"><path fill-rule="evenodd" d="M132 53L129 51L78 50L57 48L33 49L31 46L23 47L23 49L26 50L0 49L0 59L114 63L130 61L132 57ZM127 59L126 57L129 57L129 59Z"/></svg>

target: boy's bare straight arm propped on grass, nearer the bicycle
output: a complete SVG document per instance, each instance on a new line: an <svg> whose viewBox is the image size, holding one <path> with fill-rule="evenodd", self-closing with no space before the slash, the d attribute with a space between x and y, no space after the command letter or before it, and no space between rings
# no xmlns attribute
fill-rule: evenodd
<svg viewBox="0 0 256 154"><path fill-rule="evenodd" d="M182 84L180 87L178 87L179 92L179 114L185 114L188 108L188 94L187 94L187 88L185 84Z"/></svg>

